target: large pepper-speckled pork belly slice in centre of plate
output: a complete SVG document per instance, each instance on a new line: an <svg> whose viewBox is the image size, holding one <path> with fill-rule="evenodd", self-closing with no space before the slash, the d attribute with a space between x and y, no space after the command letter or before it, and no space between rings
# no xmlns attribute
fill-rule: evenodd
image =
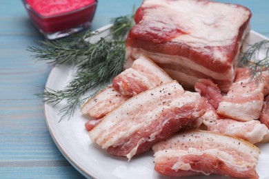
<svg viewBox="0 0 269 179"><path fill-rule="evenodd" d="M201 96L184 92L172 81L130 98L107 114L89 135L92 143L109 154L130 160L188 127L203 113Z"/></svg>

